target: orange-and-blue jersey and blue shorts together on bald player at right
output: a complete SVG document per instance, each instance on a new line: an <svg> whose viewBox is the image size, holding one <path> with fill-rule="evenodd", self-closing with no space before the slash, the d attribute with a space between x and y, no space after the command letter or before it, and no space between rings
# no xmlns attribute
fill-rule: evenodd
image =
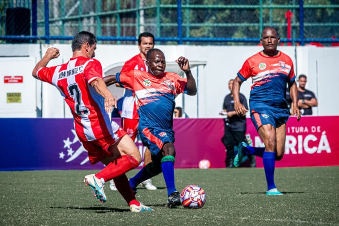
<svg viewBox="0 0 339 226"><path fill-rule="evenodd" d="M259 52L246 59L237 75L242 81L252 78L249 108L257 130L264 124L276 128L287 122L286 84L296 78L290 57L282 52L265 57Z"/></svg>

